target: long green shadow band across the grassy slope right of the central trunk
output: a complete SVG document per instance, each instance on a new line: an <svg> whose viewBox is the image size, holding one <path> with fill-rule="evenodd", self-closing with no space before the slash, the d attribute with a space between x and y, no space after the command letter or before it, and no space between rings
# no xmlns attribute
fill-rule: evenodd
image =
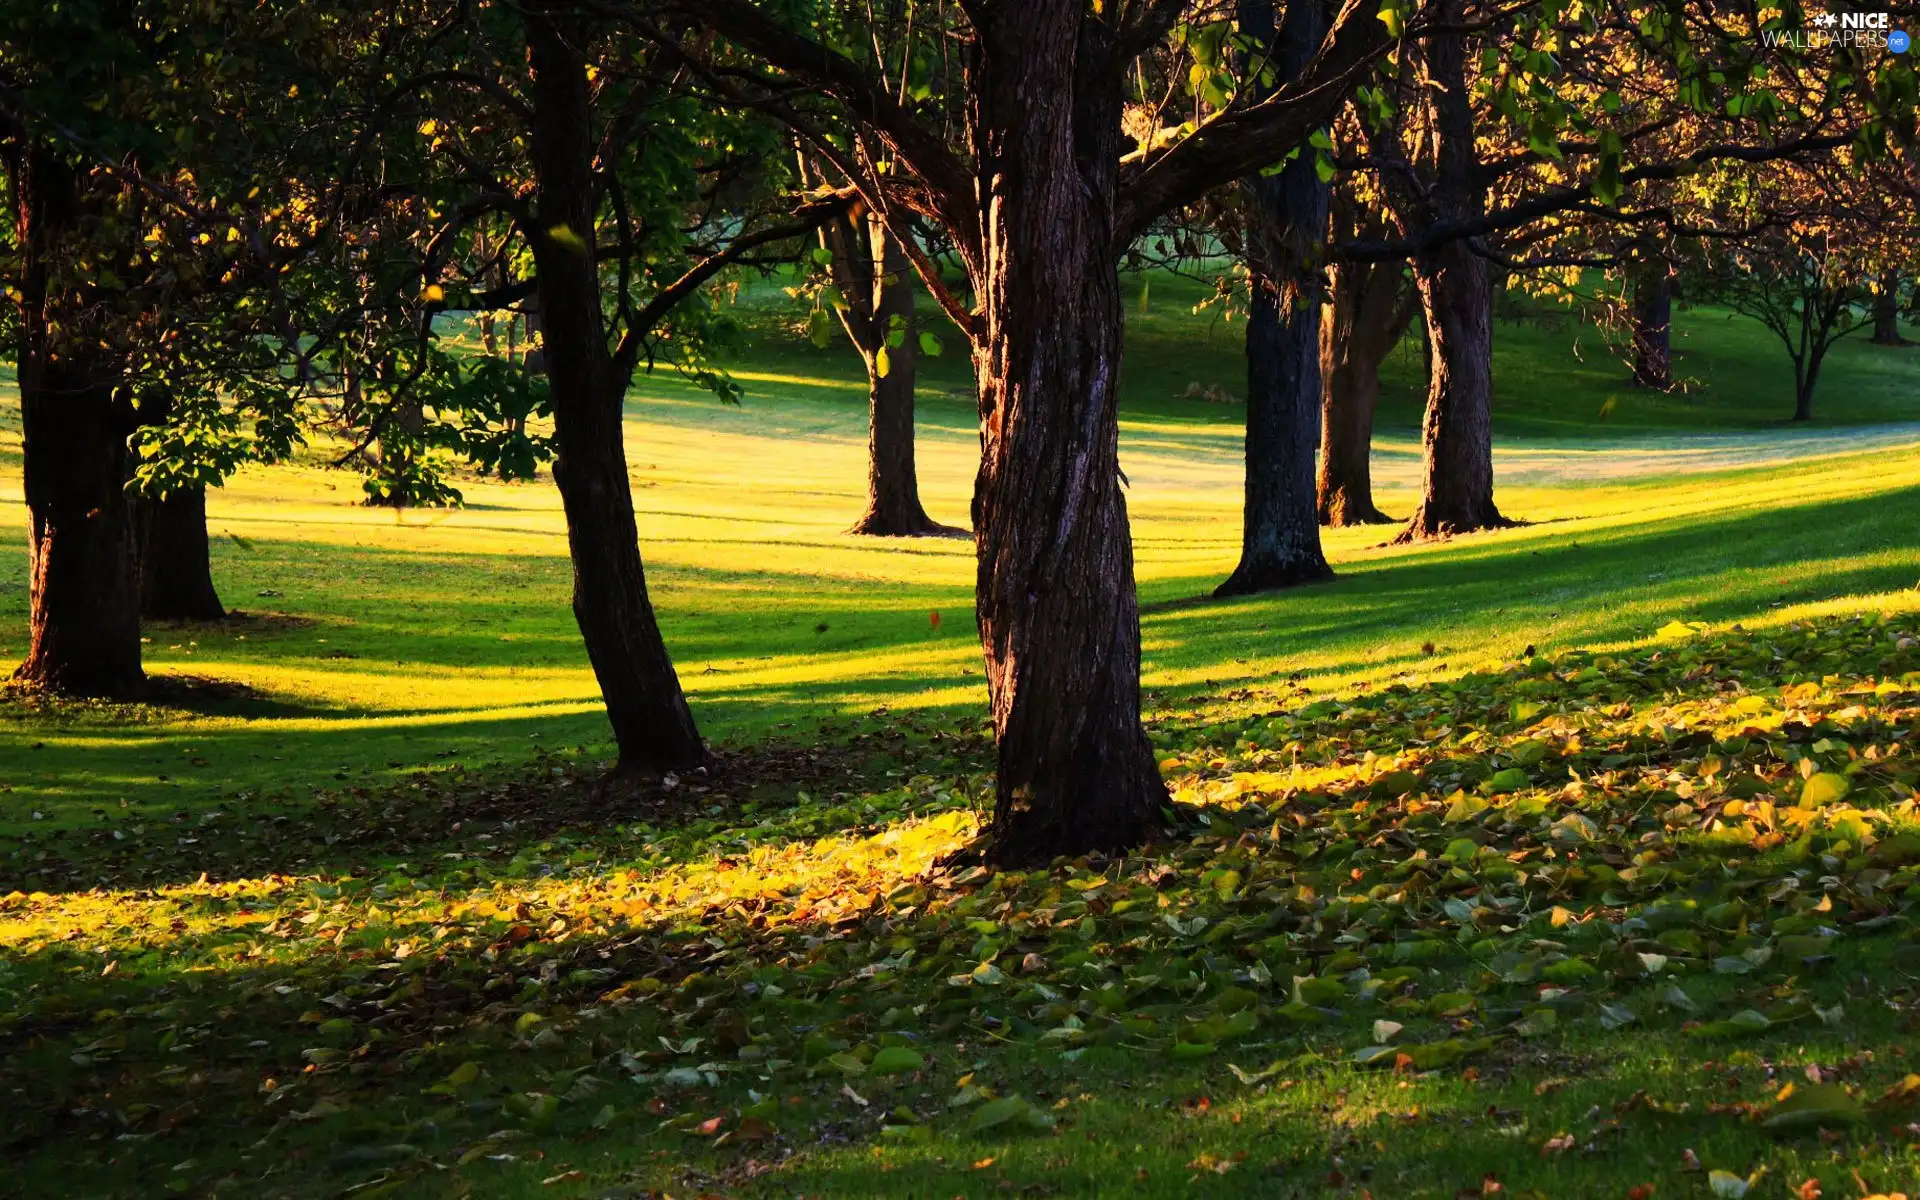
<svg viewBox="0 0 1920 1200"><path fill-rule="evenodd" d="M1210 662L1215 685L1225 685L1261 680L1227 666L1236 659L1325 659L1327 645L1371 643L1377 649L1361 664L1380 670L1425 659L1413 649L1421 639L1444 643L1453 630L1488 622L1505 630L1496 645L1630 641L1674 618L1726 622L1797 601L1912 588L1920 574L1914 520L1920 488L1901 488L1576 536L1544 526L1501 530L1340 563L1338 578L1304 591L1212 599L1194 595L1212 576L1156 580L1142 589L1142 611L1154 616L1142 628L1144 659L1148 672ZM1407 639L1407 651L1380 655L1380 641L1394 637ZM1484 659L1488 649L1473 653ZM1440 645L1434 660L1448 653ZM1350 664L1300 664L1288 674L1313 678ZM1156 691L1185 697L1206 687Z"/></svg>

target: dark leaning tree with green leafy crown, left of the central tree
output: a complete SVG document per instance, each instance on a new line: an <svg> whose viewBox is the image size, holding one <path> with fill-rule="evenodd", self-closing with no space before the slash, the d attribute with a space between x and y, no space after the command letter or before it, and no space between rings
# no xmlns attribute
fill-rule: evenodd
<svg viewBox="0 0 1920 1200"><path fill-rule="evenodd" d="M793 219L770 211L762 198L783 182L772 169L781 157L774 129L695 96L666 50L616 36L593 6L420 0L417 15L396 23L392 54L378 60L396 79L374 106L374 173L420 228L396 275L424 294L428 315L532 300L572 609L618 745L614 770L695 766L707 749L639 555L626 390L643 363L664 357L732 396L705 365L724 330L699 301L703 288L762 248L791 259L845 198L814 198ZM492 269L465 278L455 263L480 234ZM515 248L532 276L499 284ZM480 276L493 276L492 294L474 294ZM392 278L382 286L399 292Z"/></svg>

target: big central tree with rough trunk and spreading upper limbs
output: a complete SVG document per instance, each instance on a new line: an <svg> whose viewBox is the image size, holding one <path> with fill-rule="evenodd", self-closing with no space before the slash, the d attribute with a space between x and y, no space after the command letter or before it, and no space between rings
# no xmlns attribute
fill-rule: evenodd
<svg viewBox="0 0 1920 1200"><path fill-rule="evenodd" d="M804 138L972 342L975 605L998 743L991 856L1139 845L1160 831L1167 791L1140 726L1117 259L1154 219L1302 146L1386 50L1386 23L1342 8L1308 67L1256 96L1217 35L1194 58L1208 38L1177 2L975 0L914 8L910 29L904 12L889 25L801 10L783 21L747 0L687 0L636 4L634 19ZM735 56L678 38L666 17ZM1129 142L1129 100L1162 98L1135 65L1167 79L1175 58L1181 79L1198 65L1196 106L1202 90L1213 102L1190 131L1181 113ZM952 242L968 298L914 252L910 217Z"/></svg>

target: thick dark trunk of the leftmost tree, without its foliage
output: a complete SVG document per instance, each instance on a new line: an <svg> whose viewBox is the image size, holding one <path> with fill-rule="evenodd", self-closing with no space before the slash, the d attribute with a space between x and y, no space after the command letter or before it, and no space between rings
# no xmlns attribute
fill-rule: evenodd
<svg viewBox="0 0 1920 1200"><path fill-rule="evenodd" d="M17 367L29 530L29 643L13 678L131 695L146 676L125 490L134 415L102 349L113 298L56 280L90 234L96 180L46 150L12 165L25 252Z"/></svg>

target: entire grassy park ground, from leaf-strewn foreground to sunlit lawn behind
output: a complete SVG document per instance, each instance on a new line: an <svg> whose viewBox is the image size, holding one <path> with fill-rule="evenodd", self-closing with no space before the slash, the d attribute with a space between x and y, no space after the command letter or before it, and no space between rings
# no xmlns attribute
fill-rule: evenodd
<svg viewBox="0 0 1920 1200"><path fill-rule="evenodd" d="M1680 313L1692 382L1649 396L1517 311L1496 470L1526 524L1336 530L1336 582L1208 601L1240 330L1137 286L1171 843L943 866L991 780L972 547L841 532L864 384L749 307L741 405L655 376L628 417L708 774L597 789L549 480L396 515L319 451L209 501L238 614L150 630L163 703L8 701L0 1192L1920 1190L1920 349L1843 344L1788 426L1743 321ZM1396 515L1417 355L1375 457ZM920 417L962 524L952 353Z"/></svg>

